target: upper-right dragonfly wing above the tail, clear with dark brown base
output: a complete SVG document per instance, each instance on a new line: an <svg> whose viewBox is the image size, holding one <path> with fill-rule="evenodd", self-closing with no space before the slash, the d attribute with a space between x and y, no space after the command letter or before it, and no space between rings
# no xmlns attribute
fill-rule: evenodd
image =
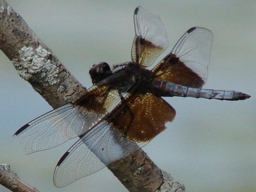
<svg viewBox="0 0 256 192"><path fill-rule="evenodd" d="M208 76L212 40L212 32L208 29L189 29L152 71L158 80L201 88Z"/></svg>

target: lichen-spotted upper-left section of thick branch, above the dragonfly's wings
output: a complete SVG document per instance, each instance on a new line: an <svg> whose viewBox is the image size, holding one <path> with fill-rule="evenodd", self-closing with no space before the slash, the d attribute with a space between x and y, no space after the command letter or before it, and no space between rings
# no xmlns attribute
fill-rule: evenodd
<svg viewBox="0 0 256 192"><path fill-rule="evenodd" d="M0 49L20 77L53 108L74 99L84 87L5 1L0 1Z"/></svg>

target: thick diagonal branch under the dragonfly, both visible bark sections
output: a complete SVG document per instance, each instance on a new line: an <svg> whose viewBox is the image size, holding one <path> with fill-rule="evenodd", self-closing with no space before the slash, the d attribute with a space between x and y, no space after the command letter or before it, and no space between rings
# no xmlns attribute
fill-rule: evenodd
<svg viewBox="0 0 256 192"><path fill-rule="evenodd" d="M85 89L4 0L0 0L0 49L20 77L53 108ZM108 169L129 191L185 191L183 184L160 170L142 149L108 165Z"/></svg>

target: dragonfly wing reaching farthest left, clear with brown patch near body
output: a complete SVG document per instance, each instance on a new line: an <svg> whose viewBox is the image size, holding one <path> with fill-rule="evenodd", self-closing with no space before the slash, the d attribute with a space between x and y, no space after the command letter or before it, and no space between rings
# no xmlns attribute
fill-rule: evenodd
<svg viewBox="0 0 256 192"><path fill-rule="evenodd" d="M87 132L120 101L117 90L95 85L71 103L24 125L14 136L21 139L27 154L53 148Z"/></svg>

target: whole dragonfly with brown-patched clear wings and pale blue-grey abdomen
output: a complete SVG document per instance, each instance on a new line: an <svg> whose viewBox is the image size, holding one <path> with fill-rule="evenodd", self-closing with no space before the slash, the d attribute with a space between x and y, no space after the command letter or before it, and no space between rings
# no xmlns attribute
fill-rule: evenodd
<svg viewBox="0 0 256 192"><path fill-rule="evenodd" d="M21 127L27 154L79 140L60 158L56 187L97 172L146 145L172 122L175 109L162 96L244 100L241 92L202 89L207 79L212 32L190 28L156 67L148 70L168 46L162 21L142 7L134 11L132 61L94 65L93 86L76 99Z"/></svg>

